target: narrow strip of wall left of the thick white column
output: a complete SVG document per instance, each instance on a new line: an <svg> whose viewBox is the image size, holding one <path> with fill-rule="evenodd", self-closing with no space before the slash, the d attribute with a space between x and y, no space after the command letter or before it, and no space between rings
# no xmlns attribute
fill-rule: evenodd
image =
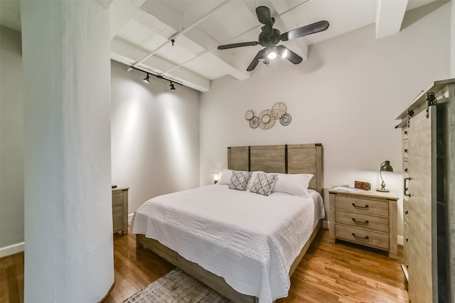
<svg viewBox="0 0 455 303"><path fill-rule="evenodd" d="M0 258L23 250L21 33L0 26Z"/></svg>

